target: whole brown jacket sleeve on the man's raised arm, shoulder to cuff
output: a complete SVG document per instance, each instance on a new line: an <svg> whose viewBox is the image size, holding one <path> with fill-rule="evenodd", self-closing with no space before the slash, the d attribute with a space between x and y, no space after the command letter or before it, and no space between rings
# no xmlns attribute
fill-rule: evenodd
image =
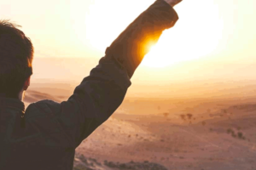
<svg viewBox="0 0 256 170"><path fill-rule="evenodd" d="M130 78L147 53L144 44L156 42L162 31L177 20L173 8L157 0L139 15L106 50L90 76L61 102L61 127L73 147L108 120L125 98Z"/></svg>

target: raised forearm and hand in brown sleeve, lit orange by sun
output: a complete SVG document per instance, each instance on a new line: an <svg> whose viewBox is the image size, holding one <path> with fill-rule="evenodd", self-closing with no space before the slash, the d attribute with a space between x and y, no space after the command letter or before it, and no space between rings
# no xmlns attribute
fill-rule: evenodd
<svg viewBox="0 0 256 170"><path fill-rule="evenodd" d="M181 0L157 0L152 4L107 48L106 58L116 59L131 78L148 53L148 44L156 43L162 31L174 26L178 20L172 8L177 1Z"/></svg>

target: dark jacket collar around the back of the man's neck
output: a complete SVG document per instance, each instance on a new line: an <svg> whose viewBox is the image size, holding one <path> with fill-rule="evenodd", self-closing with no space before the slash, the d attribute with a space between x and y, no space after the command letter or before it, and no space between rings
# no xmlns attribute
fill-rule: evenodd
<svg viewBox="0 0 256 170"><path fill-rule="evenodd" d="M0 108L9 107L25 111L25 105L19 99L0 97Z"/></svg>

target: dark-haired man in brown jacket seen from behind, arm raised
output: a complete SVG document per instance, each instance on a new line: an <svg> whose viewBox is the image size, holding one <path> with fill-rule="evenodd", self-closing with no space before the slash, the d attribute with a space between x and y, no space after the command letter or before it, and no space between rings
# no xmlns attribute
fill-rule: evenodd
<svg viewBox="0 0 256 170"><path fill-rule="evenodd" d="M67 101L38 101L26 112L22 100L32 75L32 42L1 21L0 169L73 169L75 149L122 103L148 53L147 42L157 42L174 26L178 17L172 7L181 1L155 1L107 48Z"/></svg>

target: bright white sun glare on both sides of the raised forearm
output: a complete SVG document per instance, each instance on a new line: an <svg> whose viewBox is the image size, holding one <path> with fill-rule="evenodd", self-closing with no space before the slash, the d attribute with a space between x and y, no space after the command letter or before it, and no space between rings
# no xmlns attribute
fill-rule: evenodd
<svg viewBox="0 0 256 170"><path fill-rule="evenodd" d="M119 1L112 1L117 3L116 6L124 5ZM141 3L134 1L137 4L136 7L129 2L125 4L126 8L115 8L115 6L105 8L109 2L96 0L90 5L90 11L86 17L84 32L86 41L89 40L91 47L103 54L125 27L152 2L145 4L144 1ZM213 1L201 3L204 3L201 5L205 8L193 9L193 16L187 14L187 11L191 11L190 4L177 8L180 19L176 26L164 31L159 42L153 47L150 47L150 42L145 44L151 50L143 59L142 65L155 68L166 67L186 60L207 57L218 48L223 33L223 22L218 17L218 6L214 5Z"/></svg>

